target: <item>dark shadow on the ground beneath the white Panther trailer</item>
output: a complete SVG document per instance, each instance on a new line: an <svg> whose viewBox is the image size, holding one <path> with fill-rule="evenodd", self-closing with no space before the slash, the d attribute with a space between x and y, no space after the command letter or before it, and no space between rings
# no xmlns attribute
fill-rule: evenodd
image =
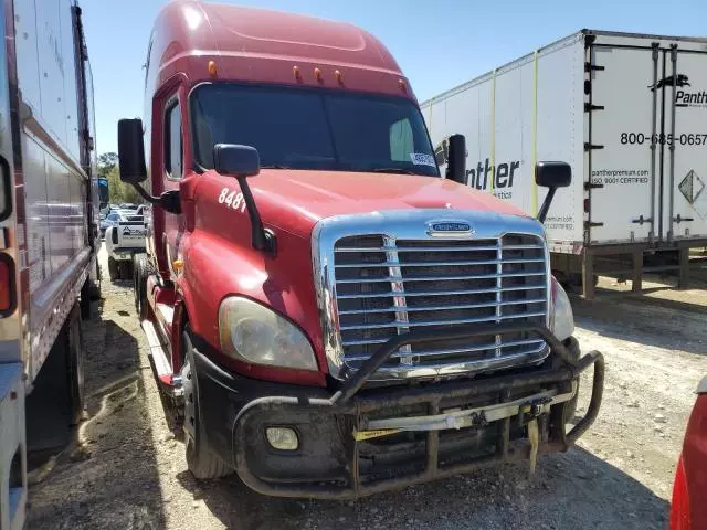
<svg viewBox="0 0 707 530"><path fill-rule="evenodd" d="M591 301L573 296L571 303L580 328L640 344L707 356L707 305L615 292Z"/></svg>

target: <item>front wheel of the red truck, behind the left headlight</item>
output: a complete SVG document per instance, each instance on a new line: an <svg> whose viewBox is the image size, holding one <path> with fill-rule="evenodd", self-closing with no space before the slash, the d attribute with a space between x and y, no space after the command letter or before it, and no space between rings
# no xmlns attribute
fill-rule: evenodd
<svg viewBox="0 0 707 530"><path fill-rule="evenodd" d="M209 441L200 421L199 382L194 371L194 349L189 331L184 331L182 338L184 343L184 363L181 368L181 379L184 389L187 468L198 479L223 477L233 473L233 469L209 447Z"/></svg>

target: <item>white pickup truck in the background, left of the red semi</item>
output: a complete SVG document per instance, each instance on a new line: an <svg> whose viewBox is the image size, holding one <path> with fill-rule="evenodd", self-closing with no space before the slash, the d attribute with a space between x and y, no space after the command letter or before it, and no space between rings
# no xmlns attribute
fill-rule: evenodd
<svg viewBox="0 0 707 530"><path fill-rule="evenodd" d="M133 255L145 252L145 218L130 212L119 212L118 222L106 229L108 275L112 282L133 277Z"/></svg>

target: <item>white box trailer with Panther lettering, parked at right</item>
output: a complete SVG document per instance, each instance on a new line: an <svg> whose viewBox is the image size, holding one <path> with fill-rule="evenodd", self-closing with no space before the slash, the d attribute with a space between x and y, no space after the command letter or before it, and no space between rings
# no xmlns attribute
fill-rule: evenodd
<svg viewBox="0 0 707 530"><path fill-rule="evenodd" d="M558 278L678 271L707 245L707 40L582 30L422 105L437 163L466 137L468 186L535 214L538 160L566 160L546 220Z"/></svg>

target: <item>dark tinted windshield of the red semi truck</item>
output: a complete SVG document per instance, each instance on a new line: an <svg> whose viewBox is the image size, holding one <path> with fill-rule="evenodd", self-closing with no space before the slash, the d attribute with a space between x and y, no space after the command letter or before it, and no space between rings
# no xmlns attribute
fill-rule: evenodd
<svg viewBox="0 0 707 530"><path fill-rule="evenodd" d="M203 169L215 144L240 144L263 168L440 174L420 110L402 97L212 84L194 91L191 113Z"/></svg>

